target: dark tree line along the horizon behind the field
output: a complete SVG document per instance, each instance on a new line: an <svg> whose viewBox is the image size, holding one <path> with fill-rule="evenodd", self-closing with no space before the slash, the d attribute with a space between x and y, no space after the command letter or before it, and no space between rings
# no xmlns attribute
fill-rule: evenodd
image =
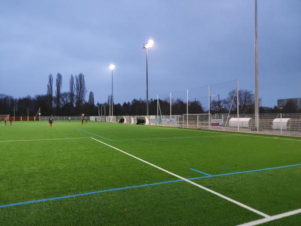
<svg viewBox="0 0 301 226"><path fill-rule="evenodd" d="M55 80L55 81L54 81ZM94 93L89 92L86 100L87 88L85 85L85 76L80 73L78 75L70 75L69 90L62 91L63 76L57 73L55 79L52 74L48 76L46 94L37 94L35 96L25 96L14 98L10 95L0 94L0 115L10 114L16 116L35 116L41 107L42 116L87 116L109 115L109 104L111 96L108 95L107 101L104 103L94 101ZM259 100L259 103L261 100ZM227 97L219 101L213 99L210 101L210 112L212 114L236 114L237 112L237 96L236 90L228 93ZM158 113L162 115L170 115L170 100L159 99ZM148 102L149 115L157 115L157 99L150 99ZM197 99L188 102L189 114L202 114L208 112L203 104ZM239 90L239 112L240 114L254 114L254 93L250 90ZM293 102L287 102L283 108L260 106L260 114L271 113L298 113ZM172 99L172 115L182 115L187 113L187 103L182 99ZM146 115L145 99L133 99L132 101L123 102L122 104L114 104L114 115Z"/></svg>

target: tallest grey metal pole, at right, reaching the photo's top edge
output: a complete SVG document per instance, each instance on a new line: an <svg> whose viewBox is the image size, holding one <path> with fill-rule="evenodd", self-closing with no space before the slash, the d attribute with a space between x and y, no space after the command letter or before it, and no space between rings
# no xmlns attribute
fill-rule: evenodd
<svg viewBox="0 0 301 226"><path fill-rule="evenodd" d="M259 93L258 93L258 41L257 41L257 0L255 0L255 125L259 127Z"/></svg>

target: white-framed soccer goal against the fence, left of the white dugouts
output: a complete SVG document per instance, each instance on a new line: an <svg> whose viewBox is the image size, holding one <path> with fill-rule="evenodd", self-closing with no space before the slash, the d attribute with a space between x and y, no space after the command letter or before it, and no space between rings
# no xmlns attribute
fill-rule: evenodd
<svg viewBox="0 0 301 226"><path fill-rule="evenodd" d="M211 129L211 114L184 114L183 128Z"/></svg>

